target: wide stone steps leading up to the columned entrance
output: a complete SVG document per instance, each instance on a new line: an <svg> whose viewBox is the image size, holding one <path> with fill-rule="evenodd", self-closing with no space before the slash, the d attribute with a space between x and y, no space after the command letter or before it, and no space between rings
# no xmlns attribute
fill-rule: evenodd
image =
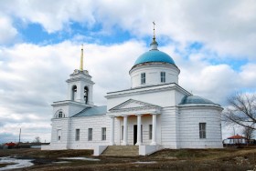
<svg viewBox="0 0 256 171"><path fill-rule="evenodd" d="M139 156L139 146L108 146L101 156Z"/></svg>

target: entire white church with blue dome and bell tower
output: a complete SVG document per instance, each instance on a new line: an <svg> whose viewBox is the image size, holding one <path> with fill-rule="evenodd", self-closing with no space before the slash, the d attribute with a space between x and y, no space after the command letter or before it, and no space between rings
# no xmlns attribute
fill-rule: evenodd
<svg viewBox="0 0 256 171"><path fill-rule="evenodd" d="M94 149L139 146L139 155L163 148L221 148L221 106L193 96L178 85L179 68L158 50L155 34L150 50L131 66L131 88L107 93L107 106L93 105L93 81L80 70L66 81L68 100L53 103L51 142L42 149Z"/></svg>

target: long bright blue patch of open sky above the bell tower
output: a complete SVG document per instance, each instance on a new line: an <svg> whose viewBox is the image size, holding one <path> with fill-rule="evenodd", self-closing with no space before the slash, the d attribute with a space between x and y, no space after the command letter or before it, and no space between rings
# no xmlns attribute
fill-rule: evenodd
<svg viewBox="0 0 256 171"><path fill-rule="evenodd" d="M21 22L21 21L19 21ZM18 22L18 23L19 23ZM100 24L93 25L92 28L87 28L85 25L80 25L78 22L72 22L68 25L68 29L61 30L55 33L48 33L42 25L28 24L26 26L16 24L18 33L21 35L22 41L31 44L45 45L45 44L58 44L65 40L70 40L75 36L90 36L80 39L81 42L86 43L98 43L101 45L111 45L117 43L123 43L129 39L136 38L128 31L125 31L118 26L112 27L112 32L108 35L101 34L103 29ZM93 38L91 37L93 35ZM149 37L147 37L149 38Z"/></svg>

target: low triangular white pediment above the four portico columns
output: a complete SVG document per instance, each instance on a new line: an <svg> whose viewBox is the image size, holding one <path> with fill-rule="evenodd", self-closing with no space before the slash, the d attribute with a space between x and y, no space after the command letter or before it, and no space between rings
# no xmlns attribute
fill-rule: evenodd
<svg viewBox="0 0 256 171"><path fill-rule="evenodd" d="M118 106L112 107L110 111L125 110L125 109L131 109L131 108L144 108L144 107L159 107L159 106L155 106L155 105L138 101L138 100L129 99Z"/></svg>

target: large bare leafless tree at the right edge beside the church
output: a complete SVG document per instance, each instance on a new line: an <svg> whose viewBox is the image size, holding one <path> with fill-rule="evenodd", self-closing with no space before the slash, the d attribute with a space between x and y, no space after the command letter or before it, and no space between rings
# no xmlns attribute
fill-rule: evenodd
<svg viewBox="0 0 256 171"><path fill-rule="evenodd" d="M256 129L256 95L237 93L228 98L228 103L223 112L226 123Z"/></svg>

